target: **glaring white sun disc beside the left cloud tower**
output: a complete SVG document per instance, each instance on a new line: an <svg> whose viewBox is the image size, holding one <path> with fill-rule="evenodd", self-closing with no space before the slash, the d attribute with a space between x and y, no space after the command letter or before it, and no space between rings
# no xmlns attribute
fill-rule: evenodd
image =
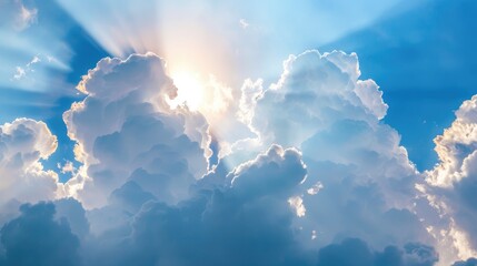
<svg viewBox="0 0 477 266"><path fill-rule="evenodd" d="M191 111L199 111L205 94L205 85L199 74L190 71L178 71L172 72L171 78L178 89L178 95L171 102L172 108L185 104Z"/></svg>

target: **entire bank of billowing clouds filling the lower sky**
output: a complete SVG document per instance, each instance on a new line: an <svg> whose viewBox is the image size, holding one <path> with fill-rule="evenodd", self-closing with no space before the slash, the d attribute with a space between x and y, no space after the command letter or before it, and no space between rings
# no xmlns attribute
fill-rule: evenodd
<svg viewBox="0 0 477 266"><path fill-rule="evenodd" d="M171 108L166 71L147 53L82 76L63 114L80 163L66 184L43 170L57 147L44 123L0 127L0 265L474 263L476 98L419 173L357 54L290 55L268 88L235 90L221 119Z"/></svg>

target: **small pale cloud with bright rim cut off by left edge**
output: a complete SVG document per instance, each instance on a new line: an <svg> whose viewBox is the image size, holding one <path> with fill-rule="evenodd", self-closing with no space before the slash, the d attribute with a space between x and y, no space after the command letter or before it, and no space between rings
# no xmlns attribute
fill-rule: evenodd
<svg viewBox="0 0 477 266"><path fill-rule="evenodd" d="M17 119L0 125L0 205L61 194L57 173L43 170L41 163L56 150L57 137L43 122Z"/></svg>

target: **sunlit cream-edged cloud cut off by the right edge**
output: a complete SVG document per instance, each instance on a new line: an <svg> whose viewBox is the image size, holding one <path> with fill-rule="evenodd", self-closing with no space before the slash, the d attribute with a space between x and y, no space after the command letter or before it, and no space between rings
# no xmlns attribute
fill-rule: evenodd
<svg viewBox="0 0 477 266"><path fill-rule="evenodd" d="M426 172L427 186L420 187L438 209L444 228L435 226L441 242L453 242L457 256L477 256L477 96L456 111L450 127L437 136L439 163Z"/></svg>

